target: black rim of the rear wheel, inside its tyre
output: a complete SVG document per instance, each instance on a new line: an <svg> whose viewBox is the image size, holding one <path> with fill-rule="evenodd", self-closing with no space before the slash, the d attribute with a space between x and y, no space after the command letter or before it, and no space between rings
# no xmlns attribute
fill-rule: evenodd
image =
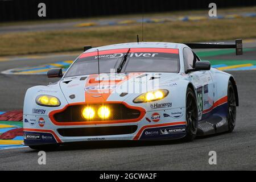
<svg viewBox="0 0 256 182"><path fill-rule="evenodd" d="M229 87L228 92L228 119L228 122L232 126L236 124L236 98L232 86Z"/></svg>

